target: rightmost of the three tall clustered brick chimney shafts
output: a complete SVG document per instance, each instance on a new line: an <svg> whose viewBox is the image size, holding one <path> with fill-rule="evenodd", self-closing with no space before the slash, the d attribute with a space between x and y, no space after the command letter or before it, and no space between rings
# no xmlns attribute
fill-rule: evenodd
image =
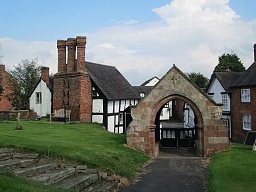
<svg viewBox="0 0 256 192"><path fill-rule="evenodd" d="M86 45L86 37L77 36L76 37L77 44L77 61L76 61L76 71L77 72L85 72L85 45Z"/></svg>

